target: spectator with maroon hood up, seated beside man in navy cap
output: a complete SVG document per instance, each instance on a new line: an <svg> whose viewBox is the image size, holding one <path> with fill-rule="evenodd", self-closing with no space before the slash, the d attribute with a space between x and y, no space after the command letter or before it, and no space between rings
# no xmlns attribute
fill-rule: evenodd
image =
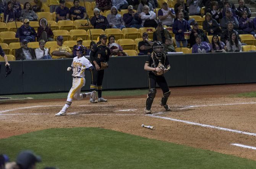
<svg viewBox="0 0 256 169"><path fill-rule="evenodd" d="M37 40L44 40L44 42L53 41L53 32L51 24L45 18L39 20L39 27L37 28Z"/></svg>

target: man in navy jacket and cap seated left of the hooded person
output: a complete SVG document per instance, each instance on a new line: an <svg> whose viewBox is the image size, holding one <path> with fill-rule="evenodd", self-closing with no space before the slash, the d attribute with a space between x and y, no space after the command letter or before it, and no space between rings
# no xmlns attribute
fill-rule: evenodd
<svg viewBox="0 0 256 169"><path fill-rule="evenodd" d="M28 42L35 42L37 34L34 27L29 26L29 20L24 19L23 25L18 28L15 37L19 38L20 42L23 39L26 39Z"/></svg>

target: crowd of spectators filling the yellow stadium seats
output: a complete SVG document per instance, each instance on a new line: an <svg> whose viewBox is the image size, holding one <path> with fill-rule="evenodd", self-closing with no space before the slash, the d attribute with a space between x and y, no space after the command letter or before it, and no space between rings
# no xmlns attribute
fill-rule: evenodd
<svg viewBox="0 0 256 169"><path fill-rule="evenodd" d="M2 2L2 3L1 3ZM23 23L16 32L16 38L21 42L17 49L16 60L72 58L75 53L68 46L63 45L63 37L58 36L57 48L45 48L45 43L54 40L51 25L46 18L37 16L37 12L44 11L41 0L21 4L16 0L0 2L0 13L4 22L21 21ZM166 52L175 52L175 47L192 48L192 53L208 52L238 52L242 51L240 35L255 35L256 18L251 19L250 8L245 6L244 0L238 0L239 6L228 0L177 0L169 4L167 0L96 0L93 16L87 16L84 6L79 0L73 1L68 8L65 0L47 0L51 13L55 12L56 21L89 19L92 29L106 30L109 28L137 28L154 27L152 39L149 32L141 33L142 40L138 44L138 55L148 55L152 52L152 43L161 41ZM202 10L202 8L204 10ZM120 13L121 10L126 13ZM104 14L109 11L108 14ZM204 16L200 23L194 15ZM38 21L37 32L30 26L31 21ZM213 35L208 39L207 35ZM122 47L115 42L114 35L108 35L108 46L113 56L127 56ZM256 35L255 35L256 37ZM39 48L28 48L29 42L38 42ZM83 39L77 41L83 43ZM86 54L89 55L92 42Z"/></svg>

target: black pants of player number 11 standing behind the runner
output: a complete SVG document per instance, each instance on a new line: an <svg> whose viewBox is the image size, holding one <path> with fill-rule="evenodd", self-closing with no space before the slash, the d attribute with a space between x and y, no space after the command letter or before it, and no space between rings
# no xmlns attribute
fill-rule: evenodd
<svg viewBox="0 0 256 169"><path fill-rule="evenodd" d="M96 69L94 68L94 70L91 71L91 74L92 74L92 82L91 82L90 90L98 91L98 98L100 98L102 93L102 81L104 77L104 70L96 71Z"/></svg>

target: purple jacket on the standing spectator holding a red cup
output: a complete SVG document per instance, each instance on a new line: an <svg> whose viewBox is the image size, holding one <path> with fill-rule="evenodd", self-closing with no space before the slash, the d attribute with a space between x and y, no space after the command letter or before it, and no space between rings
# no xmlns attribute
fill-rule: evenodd
<svg viewBox="0 0 256 169"><path fill-rule="evenodd" d="M178 32L178 30L182 30L182 32ZM192 31L190 25L188 24L188 21L183 19L180 21L179 19L176 19L174 21L173 26L172 26L172 32L175 34L175 40L185 40L184 39L184 32Z"/></svg>

